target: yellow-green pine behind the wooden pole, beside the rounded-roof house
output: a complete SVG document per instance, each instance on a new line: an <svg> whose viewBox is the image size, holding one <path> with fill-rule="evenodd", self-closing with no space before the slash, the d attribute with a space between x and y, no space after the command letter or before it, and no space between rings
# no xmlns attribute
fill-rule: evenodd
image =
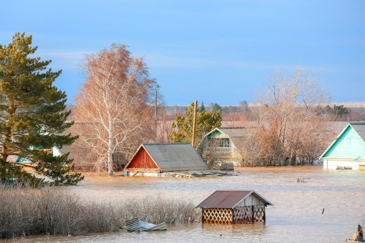
<svg viewBox="0 0 365 243"><path fill-rule="evenodd" d="M186 117L186 118L185 118ZM172 142L191 142L193 137L193 121L194 121L194 102L188 106L188 110L185 112L185 117L175 113L175 121L172 122L173 128L170 136ZM201 111L196 115L196 144L205 134L219 128L221 126L222 117L220 110L213 111Z"/></svg>

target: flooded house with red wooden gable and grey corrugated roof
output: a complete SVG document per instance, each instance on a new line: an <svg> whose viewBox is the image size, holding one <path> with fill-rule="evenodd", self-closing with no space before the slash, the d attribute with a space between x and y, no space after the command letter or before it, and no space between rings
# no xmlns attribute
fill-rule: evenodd
<svg viewBox="0 0 365 243"><path fill-rule="evenodd" d="M189 142L141 144L123 171L125 176L196 177L227 174L208 169Z"/></svg>

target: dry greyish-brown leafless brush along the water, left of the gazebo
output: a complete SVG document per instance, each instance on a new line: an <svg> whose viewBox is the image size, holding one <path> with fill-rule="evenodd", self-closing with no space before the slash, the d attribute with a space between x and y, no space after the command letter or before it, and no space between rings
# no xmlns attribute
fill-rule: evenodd
<svg viewBox="0 0 365 243"><path fill-rule="evenodd" d="M99 200L62 187L0 185L0 238L111 232L133 217L158 224L191 222L199 216L192 201L160 195Z"/></svg>

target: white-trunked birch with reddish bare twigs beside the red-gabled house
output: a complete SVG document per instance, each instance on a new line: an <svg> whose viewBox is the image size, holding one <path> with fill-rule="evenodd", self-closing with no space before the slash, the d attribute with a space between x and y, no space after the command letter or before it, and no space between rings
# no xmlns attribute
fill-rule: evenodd
<svg viewBox="0 0 365 243"><path fill-rule="evenodd" d="M132 57L126 47L114 43L78 64L85 81L74 99L74 119L84 126L75 132L97 154L99 172L109 175L113 155L128 157L141 140L155 137L150 103L158 85L149 78L143 58Z"/></svg>

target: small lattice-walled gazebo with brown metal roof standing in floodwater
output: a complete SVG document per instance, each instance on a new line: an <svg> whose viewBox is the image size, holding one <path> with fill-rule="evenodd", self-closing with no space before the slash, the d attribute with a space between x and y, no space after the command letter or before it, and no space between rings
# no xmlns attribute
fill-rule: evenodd
<svg viewBox="0 0 365 243"><path fill-rule="evenodd" d="M245 224L265 222L265 207L273 206L254 190L217 190L202 201L201 222Z"/></svg>

